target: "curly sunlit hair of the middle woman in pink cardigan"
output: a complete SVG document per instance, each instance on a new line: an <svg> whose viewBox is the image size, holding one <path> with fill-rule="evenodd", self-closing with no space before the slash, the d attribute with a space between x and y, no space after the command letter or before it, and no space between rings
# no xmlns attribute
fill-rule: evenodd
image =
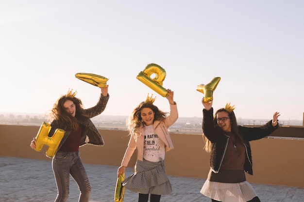
<svg viewBox="0 0 304 202"><path fill-rule="evenodd" d="M130 117L127 120L127 126L129 130L129 134L134 136L135 139L140 136L138 134L138 129L143 125L143 120L141 118L141 109L150 108L154 112L154 121L164 121L167 116L167 112L163 112L159 110L155 105L151 103L141 102L131 113Z"/></svg>

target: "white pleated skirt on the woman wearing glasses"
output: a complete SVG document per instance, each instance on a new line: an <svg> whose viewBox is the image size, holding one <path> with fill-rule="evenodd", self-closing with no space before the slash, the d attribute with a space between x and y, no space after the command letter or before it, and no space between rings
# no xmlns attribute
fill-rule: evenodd
<svg viewBox="0 0 304 202"><path fill-rule="evenodd" d="M201 193L220 202L248 202L257 196L253 187L247 181L220 183L206 180Z"/></svg>

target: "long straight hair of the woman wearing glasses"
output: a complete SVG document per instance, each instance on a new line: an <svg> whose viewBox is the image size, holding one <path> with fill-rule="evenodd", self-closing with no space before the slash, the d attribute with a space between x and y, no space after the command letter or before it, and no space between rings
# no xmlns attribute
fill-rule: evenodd
<svg viewBox="0 0 304 202"><path fill-rule="evenodd" d="M235 112L229 112L227 110L225 110L224 108L221 108L219 110L217 110L214 114L214 117L213 117L213 123L216 127L219 127L218 126L218 121L217 121L217 116L218 116L218 113L219 112L222 112L222 111L225 111L228 113L228 116L230 118L230 123L231 123L231 132L234 133L236 135L236 138L238 140L240 140L242 143L246 144L246 142L244 141L244 138L243 138L243 135L240 133L240 131L238 130L238 127L237 127L237 121L236 121L236 115L235 115ZM203 139L205 141L205 146L204 146L204 150L206 152L211 152L212 150L212 143L210 140L208 140L206 138L206 136L203 135Z"/></svg>

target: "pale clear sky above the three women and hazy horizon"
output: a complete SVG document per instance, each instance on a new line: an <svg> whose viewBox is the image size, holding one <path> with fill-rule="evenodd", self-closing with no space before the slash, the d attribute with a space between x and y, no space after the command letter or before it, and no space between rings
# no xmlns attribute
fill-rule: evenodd
<svg viewBox="0 0 304 202"><path fill-rule="evenodd" d="M68 88L84 108L100 89L75 78L109 78L103 114L129 115L146 99L168 100L136 79L166 70L180 117L202 117L215 77L214 109L237 118L303 120L303 0L0 0L0 112L45 113Z"/></svg>

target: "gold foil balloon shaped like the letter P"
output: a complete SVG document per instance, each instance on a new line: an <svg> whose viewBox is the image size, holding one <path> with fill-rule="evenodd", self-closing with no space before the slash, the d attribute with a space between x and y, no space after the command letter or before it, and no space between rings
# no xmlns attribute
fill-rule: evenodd
<svg viewBox="0 0 304 202"><path fill-rule="evenodd" d="M155 77L151 78L152 75L155 75ZM166 71L161 66L154 63L148 64L136 78L161 96L166 97L168 95L167 90L162 86L166 78Z"/></svg>

